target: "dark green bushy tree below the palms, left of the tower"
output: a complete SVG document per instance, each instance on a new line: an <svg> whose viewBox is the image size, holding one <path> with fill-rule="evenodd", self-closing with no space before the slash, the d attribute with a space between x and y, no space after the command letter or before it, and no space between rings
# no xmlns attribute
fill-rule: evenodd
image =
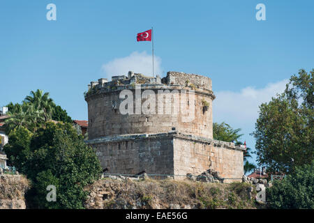
<svg viewBox="0 0 314 223"><path fill-rule="evenodd" d="M100 176L95 151L84 144L82 135L66 123L46 123L34 134L15 128L4 150L33 187L27 194L31 208L83 208L83 188ZM57 187L57 201L48 202L48 185Z"/></svg>

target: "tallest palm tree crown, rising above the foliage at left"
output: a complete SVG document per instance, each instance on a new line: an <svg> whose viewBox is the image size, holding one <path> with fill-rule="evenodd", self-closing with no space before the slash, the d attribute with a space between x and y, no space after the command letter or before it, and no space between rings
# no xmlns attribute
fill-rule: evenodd
<svg viewBox="0 0 314 223"><path fill-rule="evenodd" d="M31 91L31 95L28 95L24 102L33 104L33 107L38 111L42 110L45 121L51 120L54 101L49 97L49 92L43 94L43 91L40 89L37 89L35 92Z"/></svg>

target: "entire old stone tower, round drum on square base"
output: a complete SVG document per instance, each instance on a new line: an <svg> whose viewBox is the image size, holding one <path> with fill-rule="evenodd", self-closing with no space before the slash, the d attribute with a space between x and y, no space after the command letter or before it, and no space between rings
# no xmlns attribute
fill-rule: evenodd
<svg viewBox="0 0 314 223"><path fill-rule="evenodd" d="M98 79L85 94L88 144L111 174L243 175L244 148L213 139L211 79L183 72Z"/></svg>

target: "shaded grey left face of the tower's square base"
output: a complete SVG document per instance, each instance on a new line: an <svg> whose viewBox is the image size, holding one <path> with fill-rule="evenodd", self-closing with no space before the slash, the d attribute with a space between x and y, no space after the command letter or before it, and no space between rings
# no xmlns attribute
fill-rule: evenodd
<svg viewBox="0 0 314 223"><path fill-rule="evenodd" d="M167 134L159 137L133 135L111 138L92 144L101 167L110 174L173 174L173 139Z"/></svg>

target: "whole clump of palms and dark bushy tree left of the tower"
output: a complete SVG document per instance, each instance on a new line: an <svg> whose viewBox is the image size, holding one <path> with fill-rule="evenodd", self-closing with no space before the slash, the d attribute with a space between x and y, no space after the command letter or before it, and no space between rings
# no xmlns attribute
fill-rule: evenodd
<svg viewBox="0 0 314 223"><path fill-rule="evenodd" d="M8 164L31 179L27 193L31 208L83 208L83 188L98 179L100 163L95 151L84 144L65 110L49 93L31 91L22 104L8 105L4 146ZM54 124L51 121L61 121ZM47 186L57 188L57 201L48 202Z"/></svg>

